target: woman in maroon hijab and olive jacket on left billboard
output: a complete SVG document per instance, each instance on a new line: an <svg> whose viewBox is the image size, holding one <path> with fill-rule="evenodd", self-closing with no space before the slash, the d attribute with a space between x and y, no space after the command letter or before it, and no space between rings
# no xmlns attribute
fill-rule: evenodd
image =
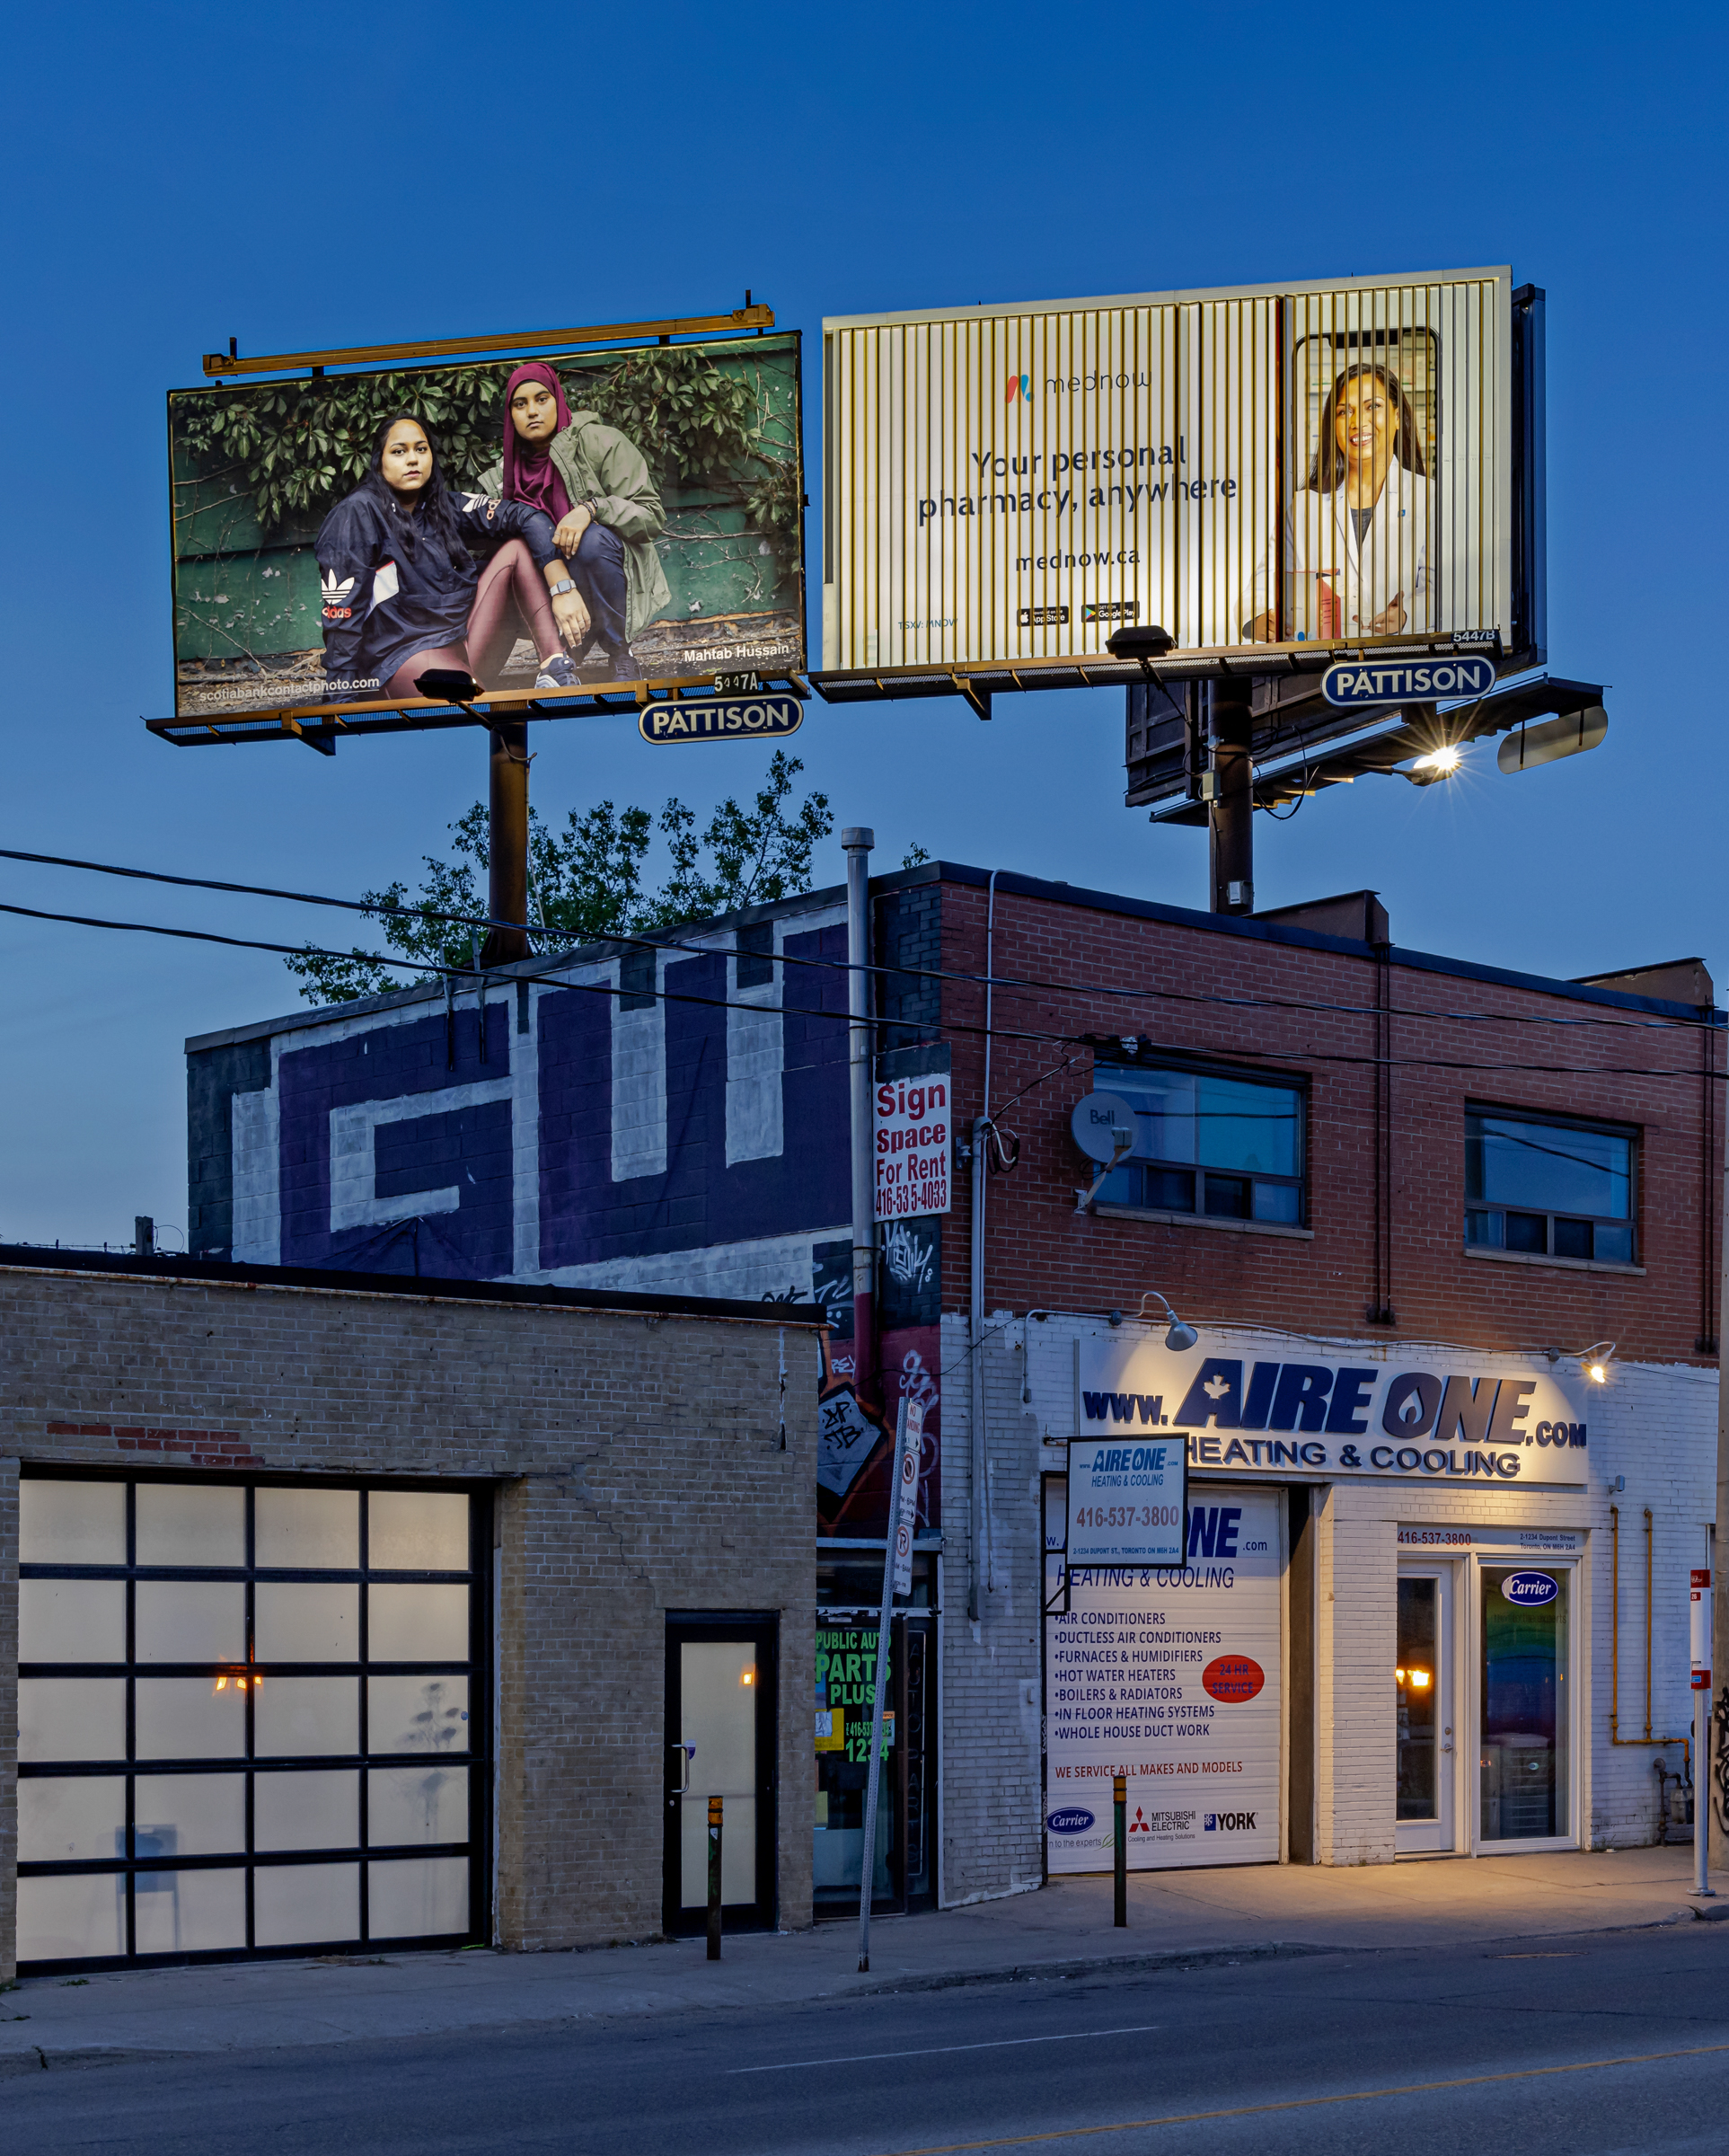
<svg viewBox="0 0 1729 2156"><path fill-rule="evenodd" d="M481 487L552 517L586 614L573 655L604 642L612 679L634 681L630 640L673 604L655 548L666 511L642 451L597 412L571 412L558 369L528 360L504 386L504 455Z"/></svg>

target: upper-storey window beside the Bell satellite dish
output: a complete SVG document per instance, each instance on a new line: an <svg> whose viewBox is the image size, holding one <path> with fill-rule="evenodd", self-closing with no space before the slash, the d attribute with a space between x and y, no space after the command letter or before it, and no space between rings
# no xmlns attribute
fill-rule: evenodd
<svg viewBox="0 0 1729 2156"><path fill-rule="evenodd" d="M1093 1082L1134 1108L1102 1205L1304 1225L1302 1087L1149 1063L1099 1063Z"/></svg>

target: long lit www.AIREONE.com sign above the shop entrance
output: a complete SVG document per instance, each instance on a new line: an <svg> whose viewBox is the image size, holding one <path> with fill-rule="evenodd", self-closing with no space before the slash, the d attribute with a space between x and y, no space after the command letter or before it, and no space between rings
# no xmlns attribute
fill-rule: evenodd
<svg viewBox="0 0 1729 2156"><path fill-rule="evenodd" d="M1078 1341L1076 1434L1171 1432L1190 1470L1585 1483L1587 1386L1464 1348L1341 1350L1291 1335Z"/></svg>

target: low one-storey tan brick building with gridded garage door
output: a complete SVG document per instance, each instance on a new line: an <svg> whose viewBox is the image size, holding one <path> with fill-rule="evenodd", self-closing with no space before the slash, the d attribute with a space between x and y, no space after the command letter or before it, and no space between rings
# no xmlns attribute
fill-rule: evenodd
<svg viewBox="0 0 1729 2156"><path fill-rule="evenodd" d="M0 1979L808 1923L817 1332L0 1250Z"/></svg>

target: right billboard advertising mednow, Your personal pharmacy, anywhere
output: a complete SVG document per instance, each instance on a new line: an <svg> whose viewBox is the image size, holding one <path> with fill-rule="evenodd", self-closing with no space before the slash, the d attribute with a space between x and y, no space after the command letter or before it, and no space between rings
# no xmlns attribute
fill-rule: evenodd
<svg viewBox="0 0 1729 2156"><path fill-rule="evenodd" d="M824 323L824 668L1498 630L1509 270Z"/></svg>

